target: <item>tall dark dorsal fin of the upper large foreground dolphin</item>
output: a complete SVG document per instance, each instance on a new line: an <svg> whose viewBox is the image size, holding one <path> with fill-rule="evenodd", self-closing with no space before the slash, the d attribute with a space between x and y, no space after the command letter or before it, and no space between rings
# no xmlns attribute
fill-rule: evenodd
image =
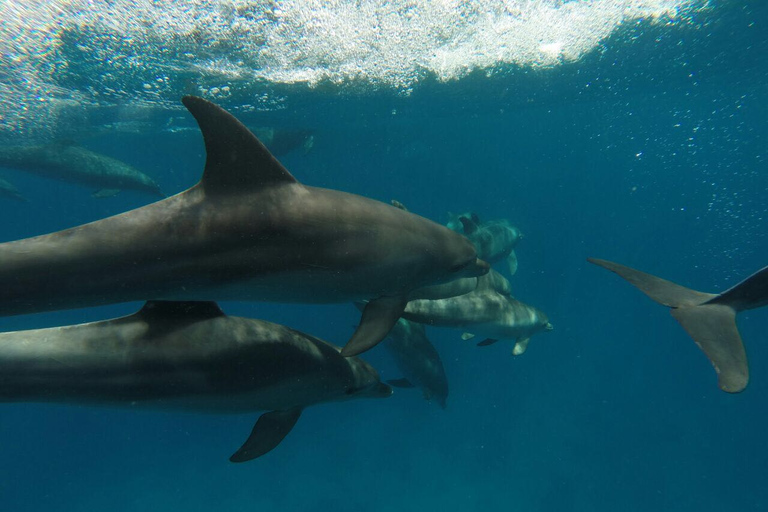
<svg viewBox="0 0 768 512"><path fill-rule="evenodd" d="M207 193L236 193L296 183L296 178L235 116L197 96L184 96L181 101L203 133L207 157L200 184Z"/></svg>

